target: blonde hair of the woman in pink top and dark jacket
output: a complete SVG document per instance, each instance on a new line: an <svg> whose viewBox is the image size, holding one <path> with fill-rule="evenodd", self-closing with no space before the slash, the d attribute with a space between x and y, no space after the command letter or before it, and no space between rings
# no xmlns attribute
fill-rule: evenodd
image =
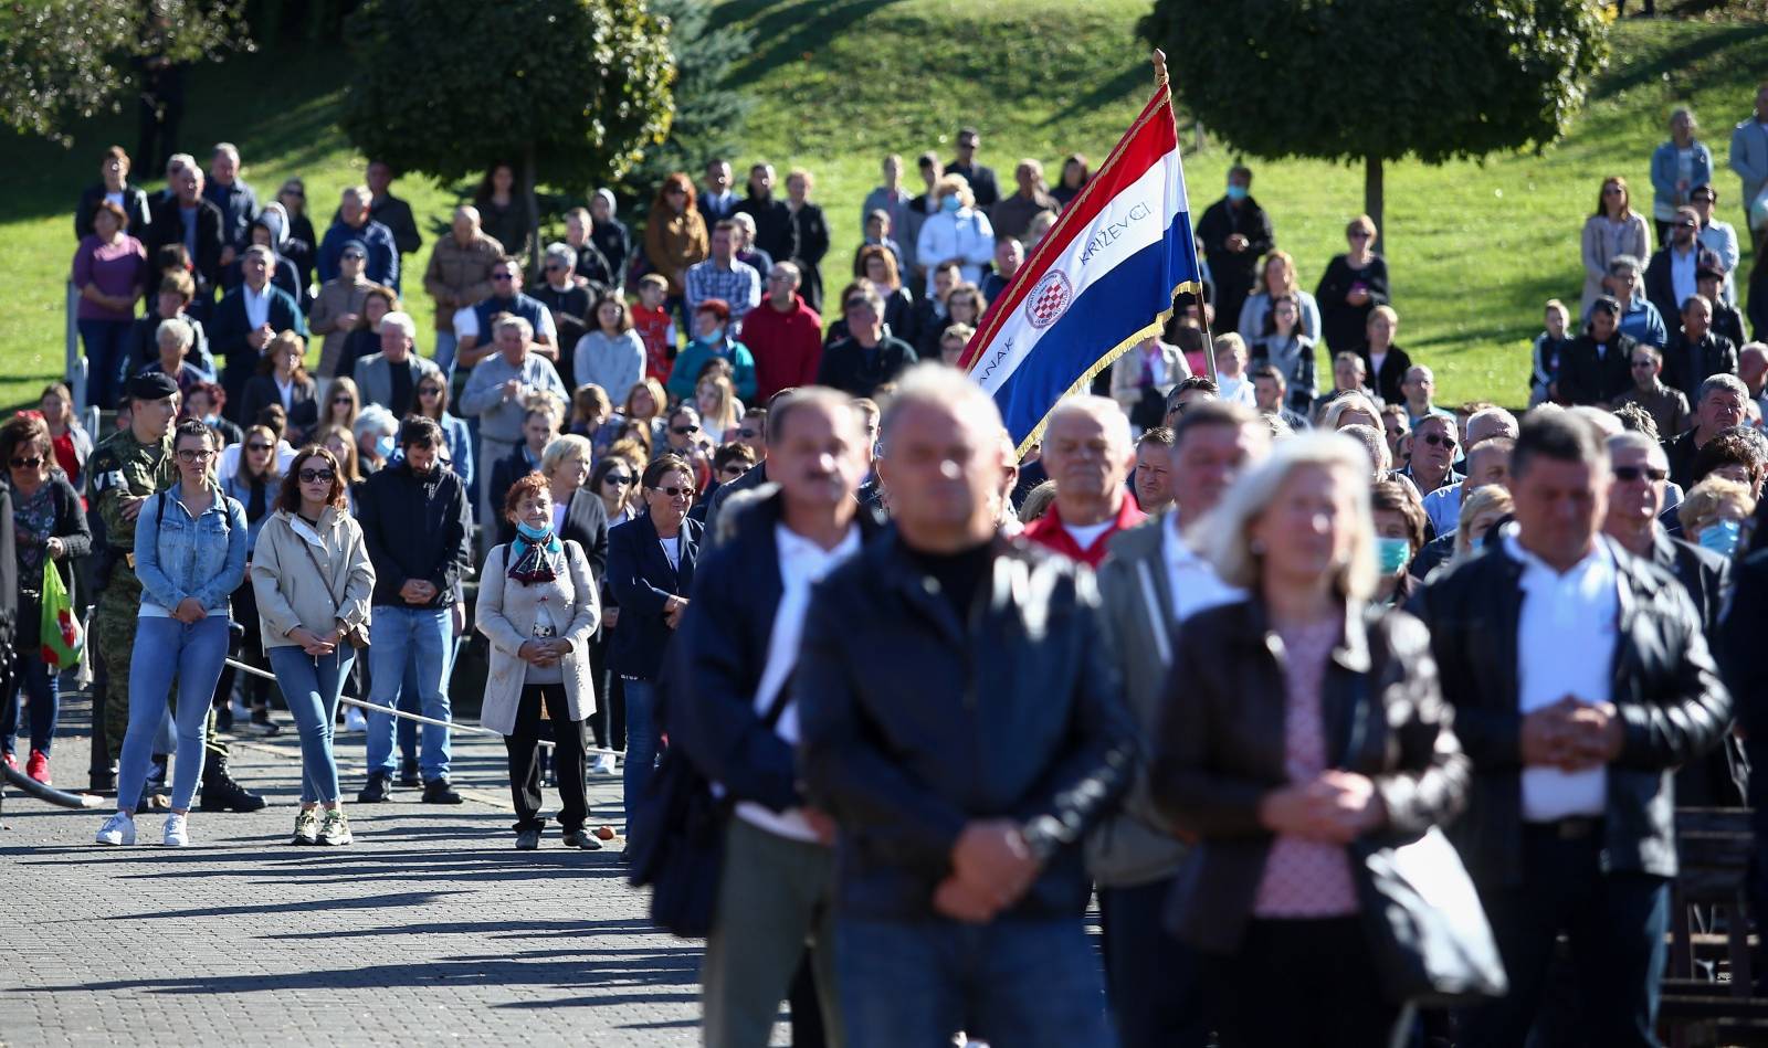
<svg viewBox="0 0 1768 1048"><path fill-rule="evenodd" d="M1252 523L1269 509L1276 491L1301 468L1342 470L1349 484L1356 535L1351 557L1337 571L1338 590L1349 601L1367 601L1376 592L1376 521L1368 509L1368 461L1354 440L1342 433L1303 433L1278 442L1271 456L1234 481L1222 502L1199 521L1202 555L1231 587L1257 590L1262 555L1252 548Z"/></svg>

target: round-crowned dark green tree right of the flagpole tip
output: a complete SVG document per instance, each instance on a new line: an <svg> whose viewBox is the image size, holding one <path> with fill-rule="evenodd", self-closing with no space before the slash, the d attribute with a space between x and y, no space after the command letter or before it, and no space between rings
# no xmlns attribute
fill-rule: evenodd
<svg viewBox="0 0 1768 1048"><path fill-rule="evenodd" d="M1609 55L1588 0L1156 0L1137 32L1232 147L1361 161L1377 230L1386 161L1543 148Z"/></svg>

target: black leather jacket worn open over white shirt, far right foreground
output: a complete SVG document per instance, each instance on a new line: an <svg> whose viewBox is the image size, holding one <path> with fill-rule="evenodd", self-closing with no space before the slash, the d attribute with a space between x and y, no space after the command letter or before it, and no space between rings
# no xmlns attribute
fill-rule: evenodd
<svg viewBox="0 0 1768 1048"><path fill-rule="evenodd" d="M1627 730L1607 769L1605 868L1676 877L1671 774L1718 744L1731 725L1731 693L1683 587L1598 541L1614 551L1619 580L1611 700ZM1480 884L1517 884L1522 875L1520 578L1522 564L1497 546L1437 574L1416 603L1455 707L1455 733L1473 758L1467 811L1450 836Z"/></svg>

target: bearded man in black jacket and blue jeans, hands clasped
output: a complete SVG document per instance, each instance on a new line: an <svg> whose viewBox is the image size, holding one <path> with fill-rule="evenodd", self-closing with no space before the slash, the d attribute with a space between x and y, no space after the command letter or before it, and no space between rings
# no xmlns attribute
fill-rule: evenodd
<svg viewBox="0 0 1768 1048"><path fill-rule="evenodd" d="M362 543L375 566L370 700L391 710L407 663L415 663L423 714L437 721L449 719L454 592L461 573L472 569L467 490L437 461L442 442L435 419L408 417L400 424L405 459L370 477L357 500ZM461 802L447 781L447 728L424 725L419 767L426 802ZM392 714L375 710L368 716L368 786L357 801L385 801L392 772Z"/></svg>

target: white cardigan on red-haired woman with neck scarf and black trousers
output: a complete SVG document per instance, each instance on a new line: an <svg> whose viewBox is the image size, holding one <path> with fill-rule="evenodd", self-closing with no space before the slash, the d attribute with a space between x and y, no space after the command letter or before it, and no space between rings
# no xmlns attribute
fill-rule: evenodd
<svg viewBox="0 0 1768 1048"><path fill-rule="evenodd" d="M589 578L589 560L575 541L564 543L566 573L552 581L522 585L506 574L504 558L509 546L497 546L484 558L479 573L479 603L476 617L479 633L492 642L492 668L484 679L484 705L479 723L493 732L513 735L516 710L522 705L522 686L529 663L516 652L534 640L534 613L545 597L560 624L559 638L571 642L571 650L559 659L564 670L564 696L571 719L582 721L596 712L596 686L589 673L589 638L601 624L601 597ZM569 622L566 626L566 622Z"/></svg>

